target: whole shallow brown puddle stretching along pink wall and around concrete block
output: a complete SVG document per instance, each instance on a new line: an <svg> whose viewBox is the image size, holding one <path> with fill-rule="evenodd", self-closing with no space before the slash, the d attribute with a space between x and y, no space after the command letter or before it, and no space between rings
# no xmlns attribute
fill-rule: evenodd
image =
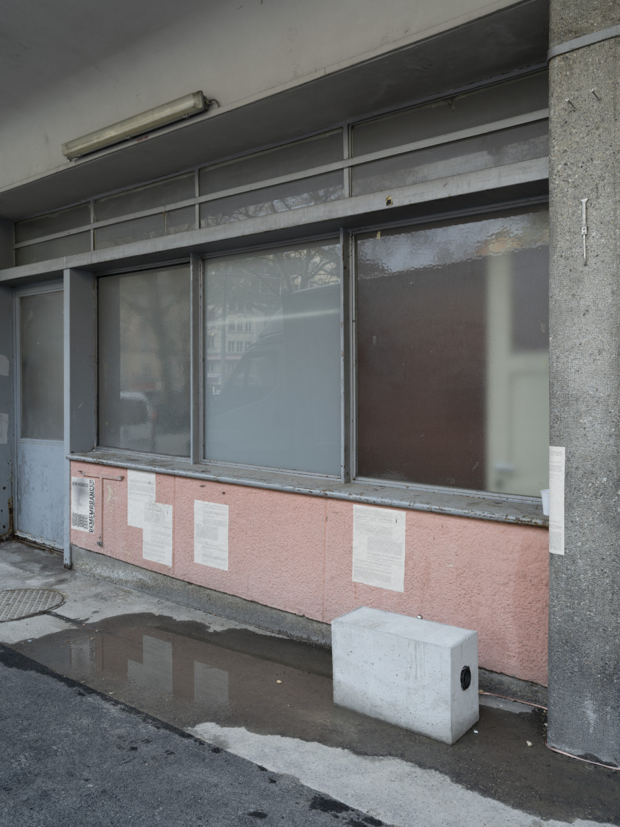
<svg viewBox="0 0 620 827"><path fill-rule="evenodd" d="M477 732L448 746L333 705L326 650L155 614L122 615L15 648L181 729L209 721L402 758L495 800L533 806L543 818L611 820L604 802L618 779L546 750L542 710L515 715L483 705Z"/></svg>

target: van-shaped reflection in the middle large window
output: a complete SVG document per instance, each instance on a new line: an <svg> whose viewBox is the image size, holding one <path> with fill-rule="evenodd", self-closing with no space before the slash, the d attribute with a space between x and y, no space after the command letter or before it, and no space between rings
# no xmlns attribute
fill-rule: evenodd
<svg viewBox="0 0 620 827"><path fill-rule="evenodd" d="M219 394L207 394L207 440L218 459L238 461L241 445L251 465L267 453L275 467L305 466L306 453L295 460L308 452L302 446L318 456L339 444L332 391L340 386L340 284L294 290L281 301ZM336 416L325 415L326 404Z"/></svg>

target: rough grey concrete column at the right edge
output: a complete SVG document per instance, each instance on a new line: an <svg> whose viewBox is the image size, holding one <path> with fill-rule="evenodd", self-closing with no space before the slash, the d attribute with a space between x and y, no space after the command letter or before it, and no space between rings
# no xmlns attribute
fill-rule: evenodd
<svg viewBox="0 0 620 827"><path fill-rule="evenodd" d="M551 445L565 447L566 477L548 740L620 765L620 6L550 5Z"/></svg>

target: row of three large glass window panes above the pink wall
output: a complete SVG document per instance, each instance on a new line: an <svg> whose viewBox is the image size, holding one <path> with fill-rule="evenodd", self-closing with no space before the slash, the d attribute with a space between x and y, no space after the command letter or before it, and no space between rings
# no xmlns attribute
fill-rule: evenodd
<svg viewBox="0 0 620 827"><path fill-rule="evenodd" d="M547 247L543 206L355 237L355 476L546 488ZM339 476L340 244L203 272L203 458ZM100 445L190 454L189 288L188 265L99 280Z"/></svg>

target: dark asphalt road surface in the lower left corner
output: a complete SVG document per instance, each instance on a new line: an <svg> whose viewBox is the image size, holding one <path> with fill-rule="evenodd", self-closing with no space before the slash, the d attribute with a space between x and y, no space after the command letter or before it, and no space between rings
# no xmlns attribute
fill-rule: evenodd
<svg viewBox="0 0 620 827"><path fill-rule="evenodd" d="M383 822L0 647L0 825Z"/></svg>

